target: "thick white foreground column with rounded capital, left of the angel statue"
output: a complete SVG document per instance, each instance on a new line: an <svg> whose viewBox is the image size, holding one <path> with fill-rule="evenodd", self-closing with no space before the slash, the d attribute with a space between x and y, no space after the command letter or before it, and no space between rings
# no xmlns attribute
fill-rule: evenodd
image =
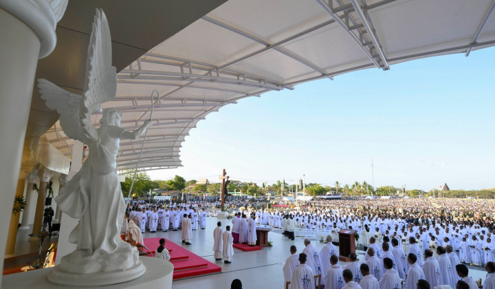
<svg viewBox="0 0 495 289"><path fill-rule="evenodd" d="M52 3L56 7L44 0L0 0L1 220L9 220L12 212L38 58L52 53L56 22L67 6L64 0ZM0 222L0 260L5 257L8 226ZM0 275L0 286L2 279Z"/></svg>

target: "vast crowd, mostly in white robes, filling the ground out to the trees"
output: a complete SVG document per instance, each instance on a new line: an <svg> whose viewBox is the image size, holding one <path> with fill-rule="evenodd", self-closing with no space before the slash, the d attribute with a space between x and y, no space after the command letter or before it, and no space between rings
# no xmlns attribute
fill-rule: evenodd
<svg viewBox="0 0 495 289"><path fill-rule="evenodd" d="M181 227L196 230L205 228L205 208L211 207L218 208L219 203L196 201L170 204L165 208L161 204L128 206L127 213L137 220L143 233L146 229L155 232ZM225 207L231 211L234 209L232 228L227 226L223 230L219 224L214 229L213 248L215 259L223 259L225 263L232 261L230 244L256 243L256 226L260 224L281 228L289 239L294 239L297 230L328 235L327 245L320 252L310 242L305 242L305 250L300 255L296 254L295 246L291 248L292 255L285 263L284 277L286 281L294 281L292 288L298 288L294 280L296 268L300 268L297 276L305 275L303 283L311 281L307 267L313 270L313 275L321 275L323 284L336 284L327 288L395 288L399 280L404 281L404 288L425 288L421 287L425 284L431 288L439 285L463 288L464 284L459 281L471 286L467 288L474 288L474 281L467 275L464 264L485 266L489 274L483 288L494 288L489 287L492 286L490 282L495 284L495 277L492 278L492 272L495 272L495 245L492 242L494 200L278 201L271 204L270 209L263 209L262 202L234 200L226 202ZM338 259L333 257L338 254L332 241L336 241L338 232L344 229L355 230L362 239L366 250L365 263L359 264L358 258L351 254L354 261L341 268ZM187 236L183 239L190 242ZM225 248L225 244L229 247ZM314 266L315 256L320 258L319 266ZM380 285L373 287L363 282Z"/></svg>

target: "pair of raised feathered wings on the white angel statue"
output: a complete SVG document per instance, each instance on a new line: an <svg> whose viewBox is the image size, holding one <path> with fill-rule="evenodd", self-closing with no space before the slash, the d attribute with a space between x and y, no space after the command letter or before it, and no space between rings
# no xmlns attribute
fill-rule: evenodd
<svg viewBox="0 0 495 289"><path fill-rule="evenodd" d="M45 79L38 80L41 98L60 114L61 126L69 138L89 143L98 139L91 114L115 98L117 74L111 66L110 28L101 9L96 9L89 40L83 95L72 94Z"/></svg>

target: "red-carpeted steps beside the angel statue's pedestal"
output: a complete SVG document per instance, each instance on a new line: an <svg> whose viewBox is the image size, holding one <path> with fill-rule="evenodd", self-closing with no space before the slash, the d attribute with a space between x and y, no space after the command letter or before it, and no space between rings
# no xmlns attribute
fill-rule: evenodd
<svg viewBox="0 0 495 289"><path fill-rule="evenodd" d="M146 238L144 239L144 246L154 254L159 246L159 239L161 238ZM166 239L165 248L170 252L170 262L174 266L173 280L221 272L221 267L170 242L168 239Z"/></svg>

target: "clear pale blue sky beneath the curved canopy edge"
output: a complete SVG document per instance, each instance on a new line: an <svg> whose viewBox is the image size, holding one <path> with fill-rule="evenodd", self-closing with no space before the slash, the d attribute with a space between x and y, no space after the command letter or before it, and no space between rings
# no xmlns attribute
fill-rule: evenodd
<svg viewBox="0 0 495 289"><path fill-rule="evenodd" d="M495 187L495 47L366 69L239 100L201 120L174 175L408 189Z"/></svg>

